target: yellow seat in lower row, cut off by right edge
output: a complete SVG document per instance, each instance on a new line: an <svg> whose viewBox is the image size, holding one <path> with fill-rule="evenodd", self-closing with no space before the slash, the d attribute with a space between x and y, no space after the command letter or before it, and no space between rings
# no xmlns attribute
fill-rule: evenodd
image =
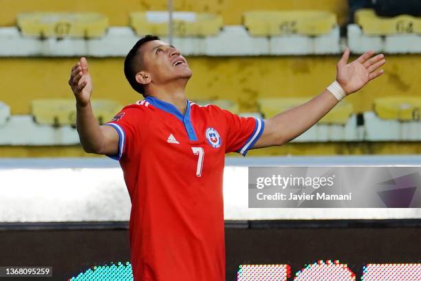
<svg viewBox="0 0 421 281"><path fill-rule="evenodd" d="M374 100L374 112L387 120L420 121L421 98L414 96L388 96Z"/></svg>

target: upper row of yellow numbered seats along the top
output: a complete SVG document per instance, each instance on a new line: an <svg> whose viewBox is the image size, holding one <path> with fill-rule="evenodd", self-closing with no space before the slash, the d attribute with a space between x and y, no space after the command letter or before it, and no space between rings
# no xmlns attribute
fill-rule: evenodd
<svg viewBox="0 0 421 281"><path fill-rule="evenodd" d="M168 12L130 13L130 25L138 35L166 36L168 21ZM421 34L421 17L384 18L378 17L374 10L362 9L356 12L355 21L367 35ZM333 12L316 10L245 12L243 23L250 35L258 37L318 36L330 33L338 24ZM177 37L215 36L223 28L220 15L198 12L173 12L173 24L173 34ZM17 25L23 36L28 37L91 39L105 35L108 19L94 12L25 12L17 15Z"/></svg>

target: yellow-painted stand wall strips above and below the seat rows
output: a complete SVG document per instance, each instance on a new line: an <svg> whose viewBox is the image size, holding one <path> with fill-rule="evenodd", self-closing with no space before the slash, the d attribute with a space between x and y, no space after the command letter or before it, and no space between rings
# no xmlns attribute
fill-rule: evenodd
<svg viewBox="0 0 421 281"><path fill-rule="evenodd" d="M92 11L109 17L110 25L129 25L129 12L166 10L166 0L0 0L0 27L16 25L16 14L31 11ZM225 25L239 25L249 10L329 10L338 15L340 24L347 17L345 0L242 1L174 0L174 10L215 12ZM228 98L240 105L241 112L256 110L259 97L315 96L333 80L339 56L255 56L188 57L193 78L187 96ZM355 59L352 58L352 59ZM378 96L420 96L421 54L386 55L385 74L363 90L347 97L354 112L372 110ZM142 96L125 80L124 58L88 58L94 80L94 98L112 98L125 105ZM11 107L12 114L29 114L34 98L72 98L67 85L70 68L77 58L0 58L0 101ZM418 154L421 146L413 143L289 143L282 147L257 149L248 155L279 154ZM0 156L92 156L80 146L30 147L3 146Z"/></svg>

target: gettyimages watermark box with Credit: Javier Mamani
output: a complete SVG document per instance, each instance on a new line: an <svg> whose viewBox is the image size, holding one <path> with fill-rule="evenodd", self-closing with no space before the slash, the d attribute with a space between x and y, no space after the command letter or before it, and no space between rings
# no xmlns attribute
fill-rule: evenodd
<svg viewBox="0 0 421 281"><path fill-rule="evenodd" d="M421 167L249 167L250 208L419 208Z"/></svg>

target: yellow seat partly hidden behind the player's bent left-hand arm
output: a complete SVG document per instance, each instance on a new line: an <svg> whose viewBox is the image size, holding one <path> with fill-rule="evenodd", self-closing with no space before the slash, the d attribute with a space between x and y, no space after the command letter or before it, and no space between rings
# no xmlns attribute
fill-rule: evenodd
<svg viewBox="0 0 421 281"><path fill-rule="evenodd" d="M122 106L116 101L98 99L91 101L94 115L100 124L111 121ZM76 124L76 105L74 99L36 99L31 101L31 112L36 123L52 125Z"/></svg>

